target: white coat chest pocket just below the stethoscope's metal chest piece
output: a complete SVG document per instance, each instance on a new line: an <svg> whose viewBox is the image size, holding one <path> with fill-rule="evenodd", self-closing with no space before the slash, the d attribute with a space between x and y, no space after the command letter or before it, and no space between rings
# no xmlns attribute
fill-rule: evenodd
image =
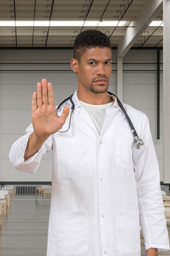
<svg viewBox="0 0 170 256"><path fill-rule="evenodd" d="M133 167L132 139L126 136L116 136L116 165L128 171Z"/></svg>

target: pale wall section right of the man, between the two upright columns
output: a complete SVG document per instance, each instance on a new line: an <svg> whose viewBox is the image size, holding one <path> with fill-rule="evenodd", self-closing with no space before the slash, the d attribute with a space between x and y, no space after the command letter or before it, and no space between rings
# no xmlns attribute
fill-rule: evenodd
<svg viewBox="0 0 170 256"><path fill-rule="evenodd" d="M157 52L156 50L130 50L123 59L123 101L144 112L151 127L152 139L163 181L163 120L162 120L162 68L163 52L160 51L160 139L157 139ZM133 63L133 64L126 64ZM140 63L140 64L138 64ZM143 63L143 64L142 64ZM147 64L146 64L147 63ZM137 131L138 132L138 131ZM166 181L164 181L166 183Z"/></svg>

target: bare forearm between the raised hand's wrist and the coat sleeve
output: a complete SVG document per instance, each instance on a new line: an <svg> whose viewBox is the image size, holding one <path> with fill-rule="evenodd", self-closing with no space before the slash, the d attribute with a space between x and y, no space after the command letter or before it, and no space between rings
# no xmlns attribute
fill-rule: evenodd
<svg viewBox="0 0 170 256"><path fill-rule="evenodd" d="M24 160L31 158L41 148L42 144L47 140L49 135L37 136L34 132L31 133L27 148L25 149Z"/></svg>

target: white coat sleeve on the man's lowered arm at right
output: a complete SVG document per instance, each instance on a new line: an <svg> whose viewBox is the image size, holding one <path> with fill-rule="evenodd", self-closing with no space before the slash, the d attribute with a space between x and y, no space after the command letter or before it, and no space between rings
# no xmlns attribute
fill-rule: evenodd
<svg viewBox="0 0 170 256"><path fill-rule="evenodd" d="M133 150L133 161L138 191L140 226L145 240L145 248L158 248L158 251L166 251L169 249L169 238L159 167L149 121L145 115L142 120L142 127L140 126L139 137L143 139L145 144L139 150Z"/></svg>

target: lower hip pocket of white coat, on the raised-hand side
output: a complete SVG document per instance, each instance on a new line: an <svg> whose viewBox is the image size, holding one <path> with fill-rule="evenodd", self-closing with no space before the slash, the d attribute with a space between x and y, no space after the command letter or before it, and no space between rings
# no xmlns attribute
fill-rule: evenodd
<svg viewBox="0 0 170 256"><path fill-rule="evenodd" d="M52 248L55 256L83 256L87 253L87 216L87 212L53 215Z"/></svg>

